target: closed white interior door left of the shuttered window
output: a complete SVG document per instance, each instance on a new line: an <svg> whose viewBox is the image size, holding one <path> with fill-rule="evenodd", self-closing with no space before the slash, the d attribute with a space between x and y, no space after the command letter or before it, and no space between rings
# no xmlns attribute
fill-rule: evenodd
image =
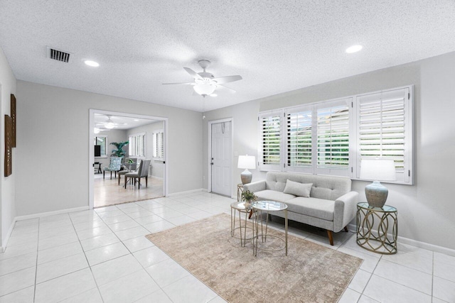
<svg viewBox="0 0 455 303"><path fill-rule="evenodd" d="M212 124L212 192L231 195L232 122Z"/></svg>

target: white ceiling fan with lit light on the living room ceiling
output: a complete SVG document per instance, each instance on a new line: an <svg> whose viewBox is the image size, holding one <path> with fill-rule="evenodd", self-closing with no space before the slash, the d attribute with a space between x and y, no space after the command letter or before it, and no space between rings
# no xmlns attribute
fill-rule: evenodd
<svg viewBox="0 0 455 303"><path fill-rule="evenodd" d="M242 77L239 75L235 76L225 76L225 77L216 77L213 76L210 72L206 72L205 69L210 66L209 60L199 60L199 66L202 67L203 72L195 72L191 68L183 67L188 74L194 78L194 82L183 82L183 83L163 83L163 84L183 84L183 85L192 85L196 93L200 94L202 97L212 96L215 97L215 89L222 88L228 89L231 92L235 92L234 89L226 87L224 84L229 82L234 82L241 80Z"/></svg>

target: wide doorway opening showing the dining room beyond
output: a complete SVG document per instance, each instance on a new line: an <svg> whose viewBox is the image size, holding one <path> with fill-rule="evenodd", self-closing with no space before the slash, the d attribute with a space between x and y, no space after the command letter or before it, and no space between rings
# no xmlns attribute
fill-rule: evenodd
<svg viewBox="0 0 455 303"><path fill-rule="evenodd" d="M167 195L166 118L90 109L89 124L90 209ZM111 157L120 158L119 165ZM138 172L142 160L150 164L142 165L146 177L141 177L140 189L130 178L125 184L123 173ZM123 170L122 175L117 169Z"/></svg>

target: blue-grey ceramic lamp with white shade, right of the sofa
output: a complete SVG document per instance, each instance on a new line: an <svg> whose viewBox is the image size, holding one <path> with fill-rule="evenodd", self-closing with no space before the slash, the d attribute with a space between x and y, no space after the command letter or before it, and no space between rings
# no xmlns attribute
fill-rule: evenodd
<svg viewBox="0 0 455 303"><path fill-rule="evenodd" d="M373 207L382 207L389 191L380 181L397 180L395 162L385 159L363 159L360 164L360 178L373 180L373 183L365 187L368 204Z"/></svg>

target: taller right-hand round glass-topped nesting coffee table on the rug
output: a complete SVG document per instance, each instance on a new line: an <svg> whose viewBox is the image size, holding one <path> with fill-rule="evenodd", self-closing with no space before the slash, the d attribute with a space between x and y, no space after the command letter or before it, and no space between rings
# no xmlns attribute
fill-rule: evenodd
<svg viewBox="0 0 455 303"><path fill-rule="evenodd" d="M284 250L285 255L287 255L287 205L282 202L275 201L258 201L252 204L254 219L253 219L253 255L257 255L257 250L266 250L266 251L278 251ZM268 235L267 228L269 226L269 214L273 211L284 211L284 239L279 236ZM265 221L265 231L264 231L264 220L262 220L262 214L267 214L267 219ZM261 221L261 233L259 233L259 220ZM261 243L267 242L267 237L277 238L284 242L283 247L279 248L267 248L266 245L261 245ZM259 238L261 238L261 243L259 243ZM261 245L261 247L259 247Z"/></svg>

